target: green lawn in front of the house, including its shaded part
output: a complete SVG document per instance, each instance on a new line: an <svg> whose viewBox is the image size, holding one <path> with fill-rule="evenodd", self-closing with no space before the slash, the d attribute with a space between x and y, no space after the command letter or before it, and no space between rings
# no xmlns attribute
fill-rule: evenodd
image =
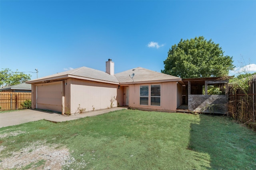
<svg viewBox="0 0 256 170"><path fill-rule="evenodd" d="M227 117L120 110L64 123L41 120L3 127L0 135L18 131L26 133L0 138L5 147L1 158L44 140L70 150L76 161L63 169L256 167L256 133Z"/></svg>

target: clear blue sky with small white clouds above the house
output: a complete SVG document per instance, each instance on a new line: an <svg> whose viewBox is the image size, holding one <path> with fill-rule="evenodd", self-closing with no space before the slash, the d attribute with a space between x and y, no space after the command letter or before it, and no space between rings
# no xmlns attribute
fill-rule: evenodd
<svg viewBox="0 0 256 170"><path fill-rule="evenodd" d="M108 59L161 72L172 45L199 36L256 72L256 1L0 1L0 69L32 79Z"/></svg>

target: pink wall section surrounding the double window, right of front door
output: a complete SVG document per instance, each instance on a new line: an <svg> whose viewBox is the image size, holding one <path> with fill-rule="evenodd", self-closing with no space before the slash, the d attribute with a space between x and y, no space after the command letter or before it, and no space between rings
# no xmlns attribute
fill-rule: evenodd
<svg viewBox="0 0 256 170"><path fill-rule="evenodd" d="M140 86L151 84L130 84L129 85L129 106L134 108L142 108L142 109L154 109L154 110L162 110L162 111L174 111L176 112L177 108L177 95L181 96L181 90L177 90L176 82L165 82L158 83L161 85L161 102L160 106L150 106L150 98L149 105L140 105ZM154 85L154 84L153 84ZM156 84L157 85L157 84ZM180 94L177 94L180 93Z"/></svg>

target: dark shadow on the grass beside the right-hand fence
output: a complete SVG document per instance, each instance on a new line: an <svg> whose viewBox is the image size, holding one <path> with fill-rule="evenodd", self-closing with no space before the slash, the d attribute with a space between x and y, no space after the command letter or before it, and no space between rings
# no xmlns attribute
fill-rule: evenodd
<svg viewBox="0 0 256 170"><path fill-rule="evenodd" d="M254 169L256 133L224 116L200 115L198 124L190 125L188 149L210 158L207 169ZM194 157L195 160L198 156Z"/></svg>

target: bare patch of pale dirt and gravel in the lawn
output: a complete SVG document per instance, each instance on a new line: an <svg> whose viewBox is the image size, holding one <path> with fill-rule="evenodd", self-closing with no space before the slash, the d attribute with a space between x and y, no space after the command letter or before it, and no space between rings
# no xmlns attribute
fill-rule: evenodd
<svg viewBox="0 0 256 170"><path fill-rule="evenodd" d="M45 141L37 141L18 152L11 152L12 156L8 158L2 158L0 169L19 169L30 165L30 169L60 170L62 166L68 166L75 161L68 149L56 149L57 147L57 145L49 146ZM38 167L37 163L42 160L44 164Z"/></svg>

